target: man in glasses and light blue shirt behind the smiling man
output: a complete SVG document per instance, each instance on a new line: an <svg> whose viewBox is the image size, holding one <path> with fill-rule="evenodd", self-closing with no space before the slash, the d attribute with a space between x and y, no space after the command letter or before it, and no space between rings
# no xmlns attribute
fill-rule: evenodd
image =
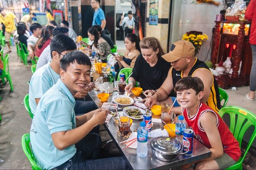
<svg viewBox="0 0 256 170"><path fill-rule="evenodd" d="M59 60L67 52L76 50L75 42L67 35L57 35L50 44L52 61L39 68L31 77L29 88L29 104L34 114L36 106L43 94L57 83L59 77Z"/></svg>

